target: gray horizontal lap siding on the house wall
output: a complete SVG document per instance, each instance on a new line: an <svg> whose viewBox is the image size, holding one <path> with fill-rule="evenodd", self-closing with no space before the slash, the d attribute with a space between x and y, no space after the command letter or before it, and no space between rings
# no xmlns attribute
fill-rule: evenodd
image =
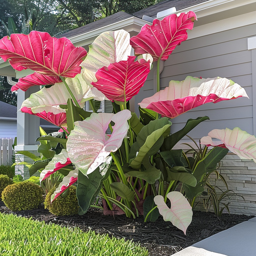
<svg viewBox="0 0 256 256"><path fill-rule="evenodd" d="M203 78L219 76L240 84L250 99L238 98L216 104L208 103L190 110L171 120L172 133L181 129L189 118L207 115L210 120L201 123L198 128L190 132L189 135L194 139L206 136L212 129L226 127L233 129L237 126L253 134L252 57L251 51L247 49L247 38L255 36L255 31L256 24L252 24L186 40L176 47L164 62L161 89L167 87L170 80L181 81L186 76ZM154 64L156 66L156 63ZM153 93L153 74L151 74L135 98L135 104Z"/></svg>

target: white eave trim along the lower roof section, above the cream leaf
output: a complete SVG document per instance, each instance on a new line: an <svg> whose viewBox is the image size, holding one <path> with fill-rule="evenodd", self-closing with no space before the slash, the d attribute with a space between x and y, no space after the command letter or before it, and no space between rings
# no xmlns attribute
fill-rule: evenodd
<svg viewBox="0 0 256 256"><path fill-rule="evenodd" d="M140 28L145 24L151 25L152 23L137 17L130 17L130 18L121 20L119 22L115 22L110 25L89 31L87 33L70 37L69 39L75 46L89 45L94 41L95 37L99 36L101 33L105 31L125 29L127 32L130 32L130 31L140 32Z"/></svg>

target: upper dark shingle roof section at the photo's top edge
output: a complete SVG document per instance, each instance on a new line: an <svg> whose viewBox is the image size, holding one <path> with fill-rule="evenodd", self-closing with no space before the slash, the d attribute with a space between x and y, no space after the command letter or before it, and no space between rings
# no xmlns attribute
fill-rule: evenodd
<svg viewBox="0 0 256 256"><path fill-rule="evenodd" d="M158 4L152 5L150 7L147 7L141 11L138 11L136 13L134 13L133 15L141 18L143 15L147 15L150 16L152 18L156 18L156 14L158 12L164 11L166 9L175 7L176 10L182 10L184 8L187 8L189 6L193 6L196 4L200 4L202 2L206 2L209 0L164 0Z"/></svg>

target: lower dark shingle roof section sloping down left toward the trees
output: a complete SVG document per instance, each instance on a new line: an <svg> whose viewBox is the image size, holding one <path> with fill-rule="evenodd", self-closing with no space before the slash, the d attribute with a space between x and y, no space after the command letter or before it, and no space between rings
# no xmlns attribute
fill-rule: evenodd
<svg viewBox="0 0 256 256"><path fill-rule="evenodd" d="M78 36L78 35L84 34L86 32L90 32L94 29L101 28L101 27L107 26L107 25L111 25L115 22L119 22L121 20L131 18L131 17L133 17L133 15L131 15L129 13L118 12L118 13L112 14L112 15L106 17L106 18L103 18L103 19L94 21L90 24L87 24L85 26L82 26L80 28L73 29L73 30L71 30L67 33L64 33L62 35L59 35L57 37L59 37L59 38L60 37L70 38L70 37L73 37L73 36Z"/></svg>

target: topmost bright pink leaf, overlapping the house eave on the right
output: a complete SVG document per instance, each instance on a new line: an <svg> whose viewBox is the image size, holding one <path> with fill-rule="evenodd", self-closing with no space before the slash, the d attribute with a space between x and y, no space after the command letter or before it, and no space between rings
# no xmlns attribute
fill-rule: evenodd
<svg viewBox="0 0 256 256"><path fill-rule="evenodd" d="M154 19L150 26L145 24L137 36L130 39L135 55L149 53L154 61L167 60L177 45L188 37L186 30L192 29L196 14L188 13L170 14L163 20Z"/></svg>

